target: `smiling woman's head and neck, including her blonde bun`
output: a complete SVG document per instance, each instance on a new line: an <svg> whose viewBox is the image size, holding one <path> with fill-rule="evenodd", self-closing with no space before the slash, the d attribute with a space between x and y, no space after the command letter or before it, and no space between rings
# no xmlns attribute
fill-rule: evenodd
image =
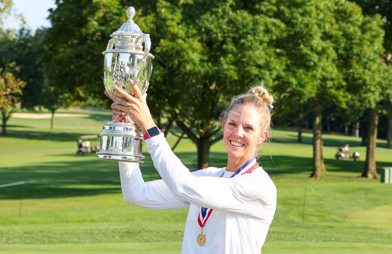
<svg viewBox="0 0 392 254"><path fill-rule="evenodd" d="M269 137L274 97L263 83L247 94L234 97L223 110L223 140L229 153L227 171L235 171L251 157L259 155L263 141ZM229 168L230 167L230 168Z"/></svg>

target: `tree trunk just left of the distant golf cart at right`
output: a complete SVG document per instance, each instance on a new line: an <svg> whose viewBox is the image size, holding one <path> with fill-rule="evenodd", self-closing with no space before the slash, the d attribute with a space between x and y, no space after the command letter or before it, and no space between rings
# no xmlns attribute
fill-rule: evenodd
<svg viewBox="0 0 392 254"><path fill-rule="evenodd" d="M323 153L322 153L322 145L323 145L323 137L321 136L321 105L317 104L313 109L313 170L312 178L323 178L323 168L325 165L323 164Z"/></svg>

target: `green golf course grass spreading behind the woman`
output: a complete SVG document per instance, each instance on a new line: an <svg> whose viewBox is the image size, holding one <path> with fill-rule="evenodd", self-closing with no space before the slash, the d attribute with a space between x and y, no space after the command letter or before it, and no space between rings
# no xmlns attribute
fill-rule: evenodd
<svg viewBox="0 0 392 254"><path fill-rule="evenodd" d="M69 111L63 110L62 112ZM9 119L0 136L0 254L2 253L180 253L187 210L154 211L122 200L118 165L76 155L80 135L98 134L109 112L73 109L89 118ZM278 189L278 205L265 253L391 253L392 184L359 177L366 148L360 139L323 135L328 172L311 179L312 135L277 130L259 164ZM176 138L168 137L169 144ZM338 161L336 148L349 143L361 160ZM377 143L377 168L392 166L392 150ZM174 152L192 171L196 147L183 139ZM144 149L143 153L148 155ZM225 166L222 142L212 146L210 164ZM159 175L146 156L145 180ZM51 183L43 185L37 183ZM303 213L306 188L306 206ZM21 208L21 209L20 209ZM19 216L20 214L20 216Z"/></svg>

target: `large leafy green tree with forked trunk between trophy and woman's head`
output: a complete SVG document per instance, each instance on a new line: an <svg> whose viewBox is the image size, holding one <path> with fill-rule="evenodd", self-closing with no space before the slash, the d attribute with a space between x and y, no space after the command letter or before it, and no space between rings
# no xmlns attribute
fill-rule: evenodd
<svg viewBox="0 0 392 254"><path fill-rule="evenodd" d="M167 95L166 112L196 144L199 169L207 167L211 145L222 138L217 119L230 97L262 77L272 84L281 71L273 42L280 22L252 4L158 1L156 81L162 85L152 94Z"/></svg>

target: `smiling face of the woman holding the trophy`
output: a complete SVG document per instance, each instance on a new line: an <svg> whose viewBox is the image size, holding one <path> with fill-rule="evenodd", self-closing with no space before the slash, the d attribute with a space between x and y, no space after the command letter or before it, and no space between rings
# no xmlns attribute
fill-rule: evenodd
<svg viewBox="0 0 392 254"><path fill-rule="evenodd" d="M229 156L250 159L254 156L256 145L267 139L267 132L260 127L260 116L255 108L249 105L238 105L233 108L226 122L222 123L223 142Z"/></svg>

